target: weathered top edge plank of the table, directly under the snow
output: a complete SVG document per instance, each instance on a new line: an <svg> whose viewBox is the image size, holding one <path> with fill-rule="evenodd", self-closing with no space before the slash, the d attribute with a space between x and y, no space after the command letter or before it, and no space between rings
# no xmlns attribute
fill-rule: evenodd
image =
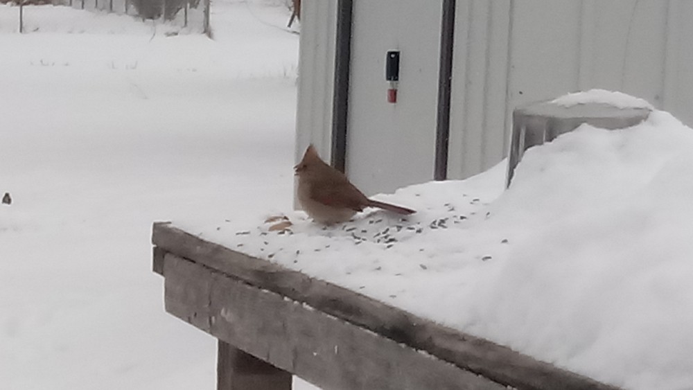
<svg viewBox="0 0 693 390"><path fill-rule="evenodd" d="M321 312L426 351L461 369L507 386L537 390L617 389L539 362L505 346L441 326L357 292L207 242L167 223L154 224L152 242L164 251L256 287L307 303ZM191 319L190 322L194 321Z"/></svg>

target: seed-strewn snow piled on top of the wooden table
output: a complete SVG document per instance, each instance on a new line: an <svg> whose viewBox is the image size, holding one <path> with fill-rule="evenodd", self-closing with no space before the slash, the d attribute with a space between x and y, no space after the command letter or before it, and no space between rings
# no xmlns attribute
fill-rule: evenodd
<svg viewBox="0 0 693 390"><path fill-rule="evenodd" d="M505 166L378 199L329 227L176 222L205 240L632 389L693 386L693 131L588 125Z"/></svg>

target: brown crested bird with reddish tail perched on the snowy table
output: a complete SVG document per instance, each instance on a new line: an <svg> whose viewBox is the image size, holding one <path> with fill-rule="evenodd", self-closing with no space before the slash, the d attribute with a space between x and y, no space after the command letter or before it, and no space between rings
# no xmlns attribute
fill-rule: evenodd
<svg viewBox="0 0 693 390"><path fill-rule="evenodd" d="M347 222L367 207L378 207L401 215L416 213L406 207L369 199L342 172L322 161L312 144L308 145L303 159L294 170L298 177L299 204L315 222Z"/></svg>

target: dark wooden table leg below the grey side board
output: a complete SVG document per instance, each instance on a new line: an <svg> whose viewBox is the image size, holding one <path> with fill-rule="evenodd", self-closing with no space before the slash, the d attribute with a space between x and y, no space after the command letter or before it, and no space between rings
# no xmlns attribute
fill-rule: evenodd
<svg viewBox="0 0 693 390"><path fill-rule="evenodd" d="M218 340L217 390L291 390L291 373Z"/></svg>

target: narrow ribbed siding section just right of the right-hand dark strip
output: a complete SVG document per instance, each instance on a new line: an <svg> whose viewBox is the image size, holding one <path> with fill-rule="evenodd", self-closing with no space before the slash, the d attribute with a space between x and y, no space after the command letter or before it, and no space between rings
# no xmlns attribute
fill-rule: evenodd
<svg viewBox="0 0 693 390"><path fill-rule="evenodd" d="M481 172L505 150L510 10L507 1L457 0L450 178Z"/></svg>

